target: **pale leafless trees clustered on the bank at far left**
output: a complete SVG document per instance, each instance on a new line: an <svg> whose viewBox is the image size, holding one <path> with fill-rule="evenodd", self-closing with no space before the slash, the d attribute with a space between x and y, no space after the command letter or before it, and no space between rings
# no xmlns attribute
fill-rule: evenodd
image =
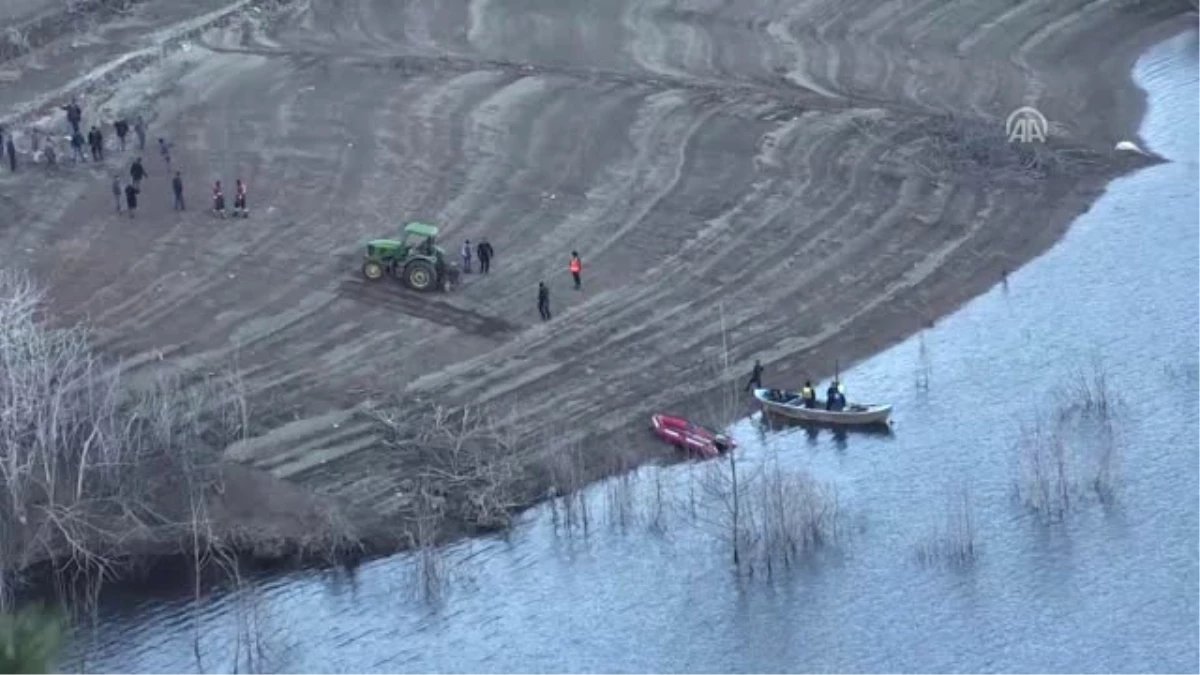
<svg viewBox="0 0 1200 675"><path fill-rule="evenodd" d="M221 419L245 400L212 377L163 375L133 387L89 347L53 328L28 279L0 274L0 567L48 560L92 593L134 538L192 528L220 489L229 441ZM240 411L230 413L229 411Z"/></svg>

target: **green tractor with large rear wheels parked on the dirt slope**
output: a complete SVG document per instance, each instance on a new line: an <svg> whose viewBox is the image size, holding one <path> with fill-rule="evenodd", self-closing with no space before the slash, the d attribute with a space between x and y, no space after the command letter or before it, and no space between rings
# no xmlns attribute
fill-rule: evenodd
<svg viewBox="0 0 1200 675"><path fill-rule="evenodd" d="M449 288L458 281L458 268L446 262L445 251L434 244L437 237L436 226L410 222L402 239L367 241L362 276L378 281L390 275L415 291Z"/></svg>

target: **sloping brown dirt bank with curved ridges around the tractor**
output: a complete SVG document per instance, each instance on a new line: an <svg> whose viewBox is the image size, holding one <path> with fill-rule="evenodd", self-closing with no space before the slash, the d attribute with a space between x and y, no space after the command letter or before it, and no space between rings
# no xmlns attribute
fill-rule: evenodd
<svg viewBox="0 0 1200 675"><path fill-rule="evenodd" d="M1141 115L1129 65L1189 8L292 2L85 100L154 115L192 210L170 210L146 149L132 220L108 193L132 153L5 174L0 244L113 357L236 359L259 428L232 460L401 522L424 460L366 411L487 406L526 443L556 438L521 458L533 497L564 437L595 474L662 452L652 411L718 407L722 318L737 377L761 358L796 382L1044 251L1133 168L1110 153ZM36 96L32 78L10 90ZM1054 130L1033 155L1003 129L1026 103ZM252 217L202 213L235 178ZM361 241L418 219L451 250L486 235L492 274L432 298L361 283Z"/></svg>

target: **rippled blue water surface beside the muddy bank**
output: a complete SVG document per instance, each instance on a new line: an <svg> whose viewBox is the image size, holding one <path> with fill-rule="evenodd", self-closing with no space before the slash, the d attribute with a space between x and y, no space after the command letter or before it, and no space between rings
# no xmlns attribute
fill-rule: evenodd
<svg viewBox="0 0 1200 675"><path fill-rule="evenodd" d="M412 598L406 556L214 598L198 625L186 602L125 604L78 645L91 671L193 671L197 635L210 673L247 645L282 673L1195 671L1198 40L1136 68L1144 137L1172 163L1115 183L1007 288L847 374L852 399L895 405L893 435L736 428L745 466L778 456L836 486L835 556L738 580L689 515L706 470L646 468L589 491L586 534L542 508L455 546L438 607ZM1018 440L1096 364L1123 400L1112 498L1073 492L1046 525L1016 497ZM922 565L960 503L974 562Z"/></svg>

